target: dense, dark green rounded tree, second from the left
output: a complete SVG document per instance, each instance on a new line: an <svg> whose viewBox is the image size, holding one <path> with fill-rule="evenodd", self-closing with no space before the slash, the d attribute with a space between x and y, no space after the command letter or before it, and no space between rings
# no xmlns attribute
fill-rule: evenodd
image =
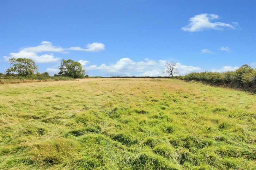
<svg viewBox="0 0 256 170"><path fill-rule="evenodd" d="M68 76L72 78L84 78L85 70L82 69L82 65L72 59L61 60L59 67L59 76Z"/></svg>

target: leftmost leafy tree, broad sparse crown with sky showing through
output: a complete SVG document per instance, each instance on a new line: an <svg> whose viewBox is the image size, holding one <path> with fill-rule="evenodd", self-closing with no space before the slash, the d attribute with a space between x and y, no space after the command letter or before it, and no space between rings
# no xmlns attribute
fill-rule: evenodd
<svg viewBox="0 0 256 170"><path fill-rule="evenodd" d="M19 76L28 76L38 71L38 66L32 59L10 58L8 61L12 66L6 70L7 73L14 72Z"/></svg>

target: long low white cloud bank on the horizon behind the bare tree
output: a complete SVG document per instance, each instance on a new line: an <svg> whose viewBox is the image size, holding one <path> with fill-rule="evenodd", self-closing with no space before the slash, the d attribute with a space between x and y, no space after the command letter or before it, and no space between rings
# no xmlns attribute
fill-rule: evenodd
<svg viewBox="0 0 256 170"><path fill-rule="evenodd" d="M129 58L122 58L115 64L89 65L85 67L85 70L99 70L105 76L163 76L162 68L165 63L165 60L133 61ZM177 63L177 68L181 75L200 70L200 67L186 66L180 63Z"/></svg>

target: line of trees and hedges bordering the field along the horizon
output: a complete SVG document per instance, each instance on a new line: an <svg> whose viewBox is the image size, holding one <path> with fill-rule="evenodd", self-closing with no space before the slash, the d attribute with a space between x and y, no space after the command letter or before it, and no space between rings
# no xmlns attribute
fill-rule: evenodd
<svg viewBox="0 0 256 170"><path fill-rule="evenodd" d="M43 79L51 77L48 72L40 73L38 66L32 59L27 58L10 58L10 67L6 70L6 76L21 76L30 79ZM35 74L36 73L36 74ZM179 74L177 63L170 61L166 63L162 69L162 73L167 76L92 76L89 77L82 65L72 59L62 59L58 74L54 77L71 77L71 78L178 78L187 81L201 81L214 86L225 86L232 88L240 88L246 91L256 92L256 68L249 65L242 65L235 71L227 72L211 72L205 71L202 73L192 72L185 76L174 76ZM3 73L0 73L0 76Z"/></svg>

